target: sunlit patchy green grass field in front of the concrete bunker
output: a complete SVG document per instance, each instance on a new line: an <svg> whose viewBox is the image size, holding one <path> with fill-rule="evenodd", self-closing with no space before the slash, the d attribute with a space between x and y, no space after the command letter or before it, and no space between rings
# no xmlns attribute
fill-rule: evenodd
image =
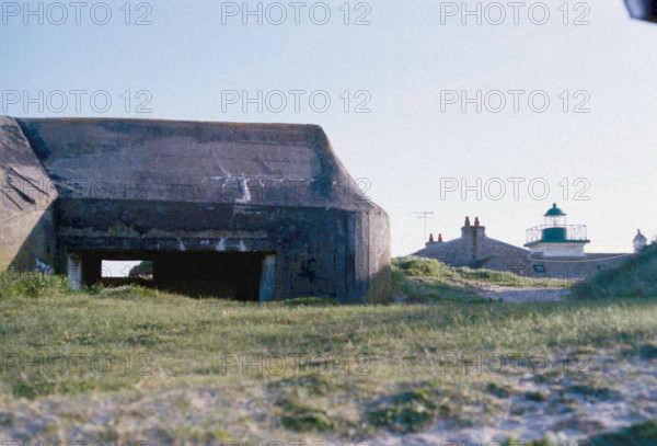
<svg viewBox="0 0 657 446"><path fill-rule="evenodd" d="M249 305L137 287L71 293L61 277L4 273L0 433L22 438L15 426L30 419L31 436L46 439L379 438L494 423L511 399L577 413L578 401L619 391L595 367L579 375L583 355L657 358L650 284L625 298L587 299L578 285L578 299L509 305L477 298L462 272L448 283L435 277L431 265L395 262L396 293L425 304L369 307ZM477 355L492 363L477 368ZM550 366L538 370L537 358ZM528 376L544 387L523 390L519 377ZM633 428L616 435L657 438L649 422Z"/></svg>

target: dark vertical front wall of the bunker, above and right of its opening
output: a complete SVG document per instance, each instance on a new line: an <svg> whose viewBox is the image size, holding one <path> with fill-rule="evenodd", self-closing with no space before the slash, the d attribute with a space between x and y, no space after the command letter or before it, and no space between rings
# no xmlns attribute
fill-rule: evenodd
<svg viewBox="0 0 657 446"><path fill-rule="evenodd" d="M85 250L261 252L276 255L274 300L390 296L390 228L381 213L62 198L57 219L61 270L69 252Z"/></svg>

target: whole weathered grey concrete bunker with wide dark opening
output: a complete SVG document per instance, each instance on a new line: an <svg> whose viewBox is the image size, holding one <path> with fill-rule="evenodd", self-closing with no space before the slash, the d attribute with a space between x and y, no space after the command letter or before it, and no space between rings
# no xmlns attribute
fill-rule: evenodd
<svg viewBox="0 0 657 446"><path fill-rule="evenodd" d="M390 225L321 127L0 117L0 268L241 300L390 297Z"/></svg>

